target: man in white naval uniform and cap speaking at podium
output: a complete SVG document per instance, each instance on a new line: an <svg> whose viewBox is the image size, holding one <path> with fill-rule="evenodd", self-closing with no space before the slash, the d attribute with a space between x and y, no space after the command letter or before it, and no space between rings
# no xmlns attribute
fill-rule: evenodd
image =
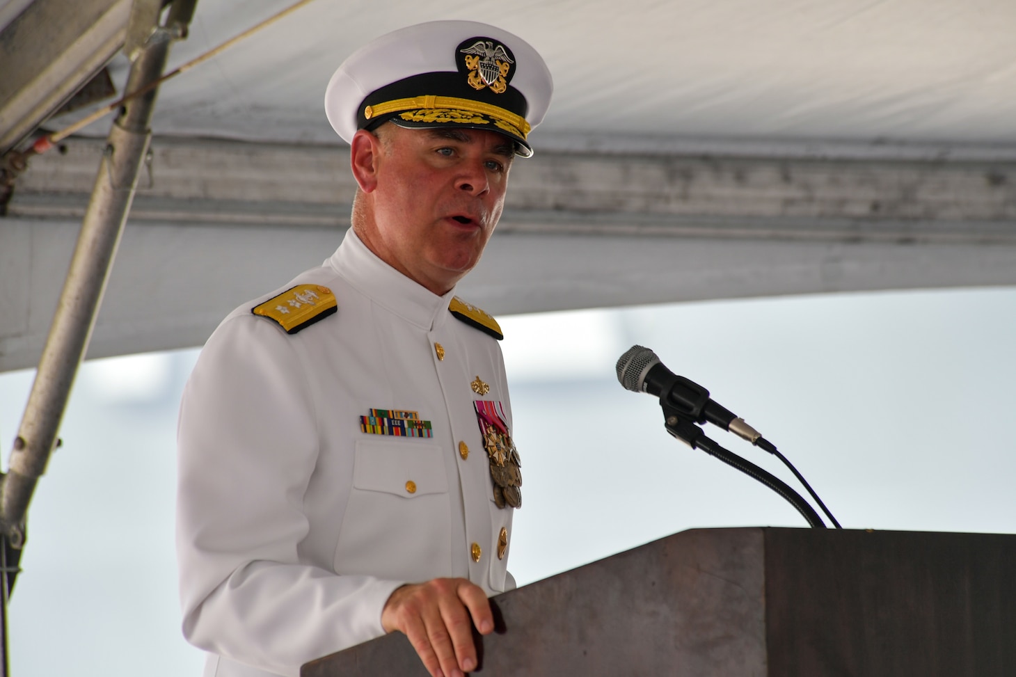
<svg viewBox="0 0 1016 677"><path fill-rule="evenodd" d="M360 190L320 267L231 313L184 393L177 543L205 675L297 675L404 632L432 675L477 665L520 502L497 322L455 297L550 103L515 36L436 21L328 86Z"/></svg>

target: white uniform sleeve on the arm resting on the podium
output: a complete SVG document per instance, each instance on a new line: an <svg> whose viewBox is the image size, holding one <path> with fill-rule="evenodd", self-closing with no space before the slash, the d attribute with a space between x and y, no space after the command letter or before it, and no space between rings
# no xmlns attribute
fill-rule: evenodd
<svg viewBox="0 0 1016 677"><path fill-rule="evenodd" d="M384 634L381 610L402 581L300 563L318 427L294 340L235 316L205 346L180 410L177 552L187 639L295 676Z"/></svg>

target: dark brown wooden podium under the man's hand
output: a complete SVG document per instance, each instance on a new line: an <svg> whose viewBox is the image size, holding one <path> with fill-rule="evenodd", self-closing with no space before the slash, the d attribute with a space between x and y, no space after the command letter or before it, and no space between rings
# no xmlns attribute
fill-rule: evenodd
<svg viewBox="0 0 1016 677"><path fill-rule="evenodd" d="M693 530L492 603L496 677L1016 675L1016 536ZM300 674L428 673L391 634Z"/></svg>

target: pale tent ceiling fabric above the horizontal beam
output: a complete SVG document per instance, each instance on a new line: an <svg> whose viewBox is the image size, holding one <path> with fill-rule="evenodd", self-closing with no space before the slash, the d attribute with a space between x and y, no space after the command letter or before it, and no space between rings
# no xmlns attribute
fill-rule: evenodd
<svg viewBox="0 0 1016 677"><path fill-rule="evenodd" d="M173 63L278 11L201 0ZM317 0L160 95L158 134L339 143L324 117L338 63L383 33L489 17L555 79L537 148L605 137L1016 140L1011 0ZM591 139L591 140L590 140Z"/></svg>

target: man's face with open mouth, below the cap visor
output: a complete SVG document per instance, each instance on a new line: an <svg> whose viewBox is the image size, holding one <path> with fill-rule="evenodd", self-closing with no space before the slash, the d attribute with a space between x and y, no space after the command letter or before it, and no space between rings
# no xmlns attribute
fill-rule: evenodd
<svg viewBox="0 0 1016 677"><path fill-rule="evenodd" d="M373 219L358 235L389 265L444 294L480 260L501 218L512 142L475 129L379 131L373 182L361 181ZM355 173L357 153L355 139Z"/></svg>

